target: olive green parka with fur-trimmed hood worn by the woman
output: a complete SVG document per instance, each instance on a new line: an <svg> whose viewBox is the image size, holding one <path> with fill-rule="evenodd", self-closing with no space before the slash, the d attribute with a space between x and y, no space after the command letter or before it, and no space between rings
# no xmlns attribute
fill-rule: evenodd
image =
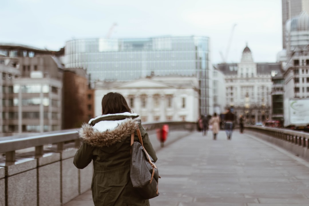
<svg viewBox="0 0 309 206"><path fill-rule="evenodd" d="M83 169L93 160L91 190L95 206L149 206L134 190L130 180L131 133L140 129L145 149L154 161L155 151L137 114L129 112L98 116L83 124L79 136L83 144L74 165ZM135 132L134 141L138 141Z"/></svg>

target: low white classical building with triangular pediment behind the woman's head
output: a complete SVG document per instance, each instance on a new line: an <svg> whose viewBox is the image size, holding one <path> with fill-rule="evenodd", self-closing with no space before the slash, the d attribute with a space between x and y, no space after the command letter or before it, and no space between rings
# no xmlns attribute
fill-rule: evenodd
<svg viewBox="0 0 309 206"><path fill-rule="evenodd" d="M118 92L142 122L190 121L199 117L199 87L195 77L149 77L130 82L95 83L95 116L102 114L101 101Z"/></svg>

